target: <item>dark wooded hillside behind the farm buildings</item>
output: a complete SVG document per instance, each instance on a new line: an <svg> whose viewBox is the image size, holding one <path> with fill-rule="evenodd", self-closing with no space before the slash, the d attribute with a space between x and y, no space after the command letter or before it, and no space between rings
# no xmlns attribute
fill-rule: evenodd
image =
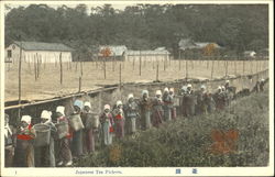
<svg viewBox="0 0 275 177"><path fill-rule="evenodd" d="M268 45L266 4L133 4L124 10L103 4L88 9L47 4L6 7L6 46L24 41L61 42L86 59L98 45L131 49L165 46L177 54L178 41L216 42L234 53Z"/></svg>

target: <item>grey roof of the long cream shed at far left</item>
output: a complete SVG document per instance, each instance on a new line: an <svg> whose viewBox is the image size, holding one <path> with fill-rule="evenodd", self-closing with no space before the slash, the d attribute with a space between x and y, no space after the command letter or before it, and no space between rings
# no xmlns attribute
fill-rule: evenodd
<svg viewBox="0 0 275 177"><path fill-rule="evenodd" d="M22 49L24 51L58 51L58 52L74 51L73 48L61 43L14 41L13 44L16 44L18 46L22 45Z"/></svg>

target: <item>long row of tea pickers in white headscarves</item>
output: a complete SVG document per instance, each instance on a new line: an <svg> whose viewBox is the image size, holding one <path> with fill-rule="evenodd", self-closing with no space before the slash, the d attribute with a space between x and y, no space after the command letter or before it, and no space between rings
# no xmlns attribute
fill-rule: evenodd
<svg viewBox="0 0 275 177"><path fill-rule="evenodd" d="M263 86L264 79L261 79L255 86L256 91L263 91ZM54 115L50 110L42 111L40 124L45 124L51 132L50 142L43 146L35 146L38 133L31 115L22 115L20 125L13 128L9 124L9 115L6 114L6 167L72 166L74 157L95 152L97 142L109 146L113 137L120 141L125 134L133 135L138 130L158 128L164 122L176 120L177 113L190 118L222 110L233 98L232 88L227 80L224 86L219 86L213 93L209 92L205 85L201 85L199 90L194 90L190 84L183 86L177 96L174 88L165 88L163 92L156 90L154 97L150 97L147 90L142 90L141 98L134 98L133 93L130 93L124 104L121 100L118 100L113 108L106 104L100 114L91 111L90 102L77 99L70 114L65 114L63 106L55 109ZM98 119L98 125L87 123L89 115ZM73 118L78 121L73 122ZM67 128L63 132L57 126L61 124Z"/></svg>

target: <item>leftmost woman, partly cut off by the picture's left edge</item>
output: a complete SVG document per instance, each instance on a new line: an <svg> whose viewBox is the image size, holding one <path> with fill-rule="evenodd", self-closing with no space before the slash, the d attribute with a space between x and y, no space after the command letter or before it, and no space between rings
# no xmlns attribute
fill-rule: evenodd
<svg viewBox="0 0 275 177"><path fill-rule="evenodd" d="M9 125L10 117L4 114L4 167L12 167L14 156L14 129Z"/></svg>

